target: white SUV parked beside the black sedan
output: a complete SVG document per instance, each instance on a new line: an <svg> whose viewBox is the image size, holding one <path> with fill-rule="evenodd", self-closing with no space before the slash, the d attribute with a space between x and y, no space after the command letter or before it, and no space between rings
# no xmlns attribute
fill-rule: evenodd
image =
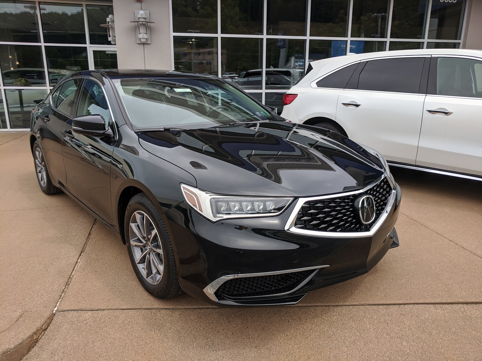
<svg viewBox="0 0 482 361"><path fill-rule="evenodd" d="M482 180L482 51L319 60L283 103L285 119L342 133L390 165Z"/></svg>

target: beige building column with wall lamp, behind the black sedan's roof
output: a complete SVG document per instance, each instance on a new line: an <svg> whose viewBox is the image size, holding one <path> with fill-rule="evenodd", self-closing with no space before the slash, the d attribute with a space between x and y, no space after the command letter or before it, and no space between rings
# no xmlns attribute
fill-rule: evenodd
<svg viewBox="0 0 482 361"><path fill-rule="evenodd" d="M172 70L169 0L113 0L116 26L117 62L120 69ZM150 44L136 41L135 10L148 10Z"/></svg>

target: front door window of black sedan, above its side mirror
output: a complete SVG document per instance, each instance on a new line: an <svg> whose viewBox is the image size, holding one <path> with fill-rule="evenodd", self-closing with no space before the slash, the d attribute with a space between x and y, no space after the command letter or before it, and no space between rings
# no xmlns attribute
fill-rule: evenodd
<svg viewBox="0 0 482 361"><path fill-rule="evenodd" d="M100 115L104 118L106 126L109 125L110 111L107 105L106 94L102 87L94 80L85 80L80 93L77 116Z"/></svg>

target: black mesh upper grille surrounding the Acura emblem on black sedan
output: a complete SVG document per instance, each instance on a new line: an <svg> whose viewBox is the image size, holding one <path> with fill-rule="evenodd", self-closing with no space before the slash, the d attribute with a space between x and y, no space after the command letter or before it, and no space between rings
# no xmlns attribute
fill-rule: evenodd
<svg viewBox="0 0 482 361"><path fill-rule="evenodd" d="M296 217L295 228L324 232L368 231L387 206L391 192L390 183L384 178L365 193L305 202ZM375 200L375 219L370 224L361 222L355 208L355 200L361 194L370 194Z"/></svg>

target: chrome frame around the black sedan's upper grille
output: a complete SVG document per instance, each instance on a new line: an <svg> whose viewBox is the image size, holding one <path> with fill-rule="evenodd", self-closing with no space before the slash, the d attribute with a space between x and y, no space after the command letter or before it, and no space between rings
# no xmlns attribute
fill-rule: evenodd
<svg viewBox="0 0 482 361"><path fill-rule="evenodd" d="M382 181L385 178L388 180L388 183L390 183L390 185L392 187L392 193L390 194L390 197L388 198L387 206L385 206L385 209L383 210L382 214L380 215L378 220L375 222L375 224L372 226L370 231L366 231L366 232L325 232L325 231L311 231L311 230L305 230L305 229L301 229L301 228L295 228L296 217L298 216L298 213L299 213L299 210L301 209L301 206L303 206L303 204L305 202L315 201L315 200L319 200L319 199L329 199L329 198L334 198L334 197L344 197L344 196L347 196L347 195L363 193L363 192L366 192L367 190L369 190L370 188L375 187L375 185L377 185L380 181ZM308 235L308 236L316 236L316 237L326 237L326 238L371 237L382 226L383 222L385 222L385 219L387 219L388 214L390 213L390 210L392 209L392 206L395 203L396 198L397 198L397 190L396 190L393 182L390 180L390 177L387 176L387 174L384 174L382 177L380 177L373 184L370 184L370 185L366 186L365 188L359 189L357 191L346 192L346 193L337 193L337 194L329 194L329 195L321 195L321 196L316 196L316 197L299 198L296 201L295 208L293 208L293 211L291 212L291 215L288 218L288 221L286 222L286 225L284 226L284 230L286 232L291 232L291 233L303 234L303 235Z"/></svg>

